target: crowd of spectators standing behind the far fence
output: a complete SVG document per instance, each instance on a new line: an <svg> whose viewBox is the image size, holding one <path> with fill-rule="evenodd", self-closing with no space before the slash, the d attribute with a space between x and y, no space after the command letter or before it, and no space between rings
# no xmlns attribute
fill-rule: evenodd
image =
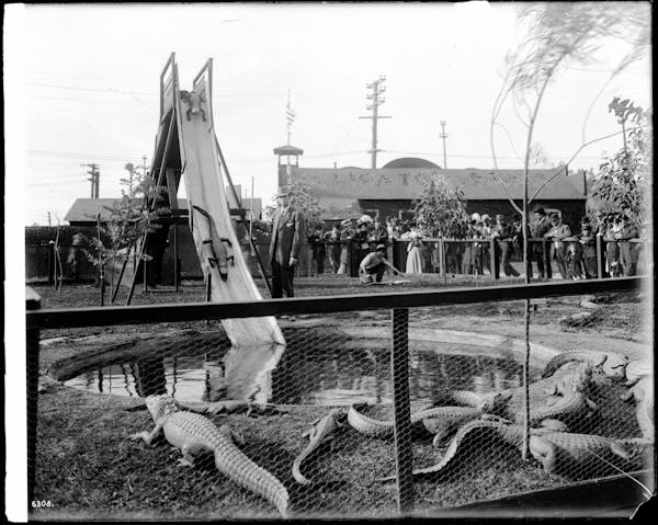
<svg viewBox="0 0 658 525"><path fill-rule="evenodd" d="M583 216L580 229L572 232L563 222L557 212L547 213L537 207L530 217L527 228L531 269L540 278L552 277L552 262L560 276L566 279L594 278L599 274L597 236L601 237L603 276L632 276L636 274L642 243L637 227L633 226L628 214L597 214L593 220ZM444 244L444 271L455 274L491 274L520 276L522 267L511 261L522 261L523 227L521 215L511 220L504 215L474 213L465 217L460 240ZM495 242L491 240L495 239ZM329 231L317 226L308 236L313 260L317 273L325 271L328 259L332 273L350 273L349 264L359 271L360 263L370 253L385 248L394 241L407 241L407 260L402 270L407 274L439 272L439 242L423 231L411 219L401 220L387 217L381 222L368 215L360 219L344 219L336 222ZM491 248L496 250L491 256ZM348 256L352 249L351 256ZM491 265L496 267L492 269ZM363 273L361 271L361 273ZM381 277L379 277L381 278Z"/></svg>

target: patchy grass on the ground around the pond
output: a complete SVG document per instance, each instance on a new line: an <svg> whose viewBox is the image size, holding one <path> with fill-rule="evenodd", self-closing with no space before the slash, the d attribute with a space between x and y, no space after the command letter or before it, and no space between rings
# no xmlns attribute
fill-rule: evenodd
<svg viewBox="0 0 658 525"><path fill-rule="evenodd" d="M424 278L394 287L365 289L373 294L392 289L427 289L428 286L442 286L439 281ZM93 286L69 286L58 293L47 286L35 286L35 289L42 296L45 308L98 306L98 289ZM363 292L356 279L344 276L328 275L297 282L299 296ZM197 284L184 286L179 294L138 292L134 304L203 301L204 296L204 287ZM640 308L635 296L617 294L602 305L597 316L598 324L581 329L561 327L559 319L563 316L581 311L578 301L577 297L552 300L533 313L533 322L554 327L556 331L580 330L585 336L588 331L600 332L605 328L615 330L622 339L632 334L640 323ZM377 324L385 322L389 316L387 311L368 313L366 317L355 317L354 312L336 317L360 324ZM412 322L432 327L436 319L461 317L509 322L518 320L521 315L522 303L503 301L422 308L413 312ZM43 346L41 370L43 373L55 361L105 343L127 341L139 334L162 334L164 330L172 329L217 330L218 324L216 321L200 321L48 330L42 334L42 340L63 339ZM222 520L277 516L270 503L224 478L211 465L195 469L180 467L177 464L180 453L166 443L148 448L129 441L131 433L150 430L154 425L148 412L126 410L138 404L140 400L135 398L44 384L38 402L35 499L50 500L54 507L35 510L32 518ZM386 408L378 410L377 416L392 416L390 412L385 412ZM324 448L304 464L304 473L322 483L300 487L292 478L294 458L305 446L302 432L327 411L327 407L290 406L283 414L231 414L212 419L216 424L228 424L240 432L246 438L243 452L282 480L291 494L293 515L396 515L395 483L376 480L395 471L390 440L367 438L345 425L337 433L331 449ZM614 414L606 415L609 419ZM633 421L632 410L626 410L624 418ZM544 473L533 461L523 461L513 448L491 446L486 442L480 445L473 447L465 460L451 465L441 477L416 482L416 509L453 506L568 481L567 478ZM415 467L431 465L438 458L439 453L429 441L415 441Z"/></svg>

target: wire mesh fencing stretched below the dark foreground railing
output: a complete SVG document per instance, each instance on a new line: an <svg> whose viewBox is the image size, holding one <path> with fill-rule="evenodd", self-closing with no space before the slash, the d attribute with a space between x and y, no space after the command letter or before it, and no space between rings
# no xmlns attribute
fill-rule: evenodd
<svg viewBox="0 0 658 525"><path fill-rule="evenodd" d="M56 502L33 517L393 517L653 471L650 362L532 343L526 431L524 342L439 329L406 296L305 299L326 312L284 317L285 349L232 347L214 310L29 322L30 499ZM39 364L41 328L93 324L42 338Z"/></svg>

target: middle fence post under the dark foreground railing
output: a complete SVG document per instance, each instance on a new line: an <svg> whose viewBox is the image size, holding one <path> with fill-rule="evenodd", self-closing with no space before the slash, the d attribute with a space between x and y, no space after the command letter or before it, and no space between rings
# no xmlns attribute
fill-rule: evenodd
<svg viewBox="0 0 658 525"><path fill-rule="evenodd" d="M413 506L413 465L411 450L411 407L409 401L409 310L394 308L393 351L390 369L393 374L395 463L398 484L398 510L400 514Z"/></svg>

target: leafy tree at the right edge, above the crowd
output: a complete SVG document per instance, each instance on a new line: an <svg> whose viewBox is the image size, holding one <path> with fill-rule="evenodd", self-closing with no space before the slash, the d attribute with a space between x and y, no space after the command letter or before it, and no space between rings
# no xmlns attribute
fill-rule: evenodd
<svg viewBox="0 0 658 525"><path fill-rule="evenodd" d="M624 146L599 167L592 191L593 207L603 213L624 212L642 228L651 195L651 114L619 96L612 100L609 111L614 113L623 132L627 123L633 126L627 136L624 133Z"/></svg>

